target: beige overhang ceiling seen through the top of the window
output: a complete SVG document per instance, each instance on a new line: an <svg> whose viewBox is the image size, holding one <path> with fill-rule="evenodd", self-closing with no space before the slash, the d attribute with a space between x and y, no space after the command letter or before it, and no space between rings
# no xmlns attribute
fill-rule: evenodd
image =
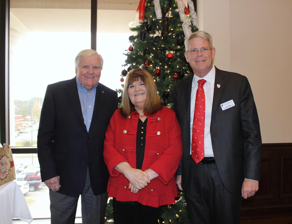
<svg viewBox="0 0 292 224"><path fill-rule="evenodd" d="M90 0L11 0L10 30L17 38L28 31L90 32ZM98 0L98 32L127 33L139 0Z"/></svg>

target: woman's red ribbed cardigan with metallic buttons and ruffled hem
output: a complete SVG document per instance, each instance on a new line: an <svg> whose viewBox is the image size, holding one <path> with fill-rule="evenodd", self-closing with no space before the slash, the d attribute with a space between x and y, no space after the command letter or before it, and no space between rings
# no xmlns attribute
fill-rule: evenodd
<svg viewBox="0 0 292 224"><path fill-rule="evenodd" d="M121 162L128 162L136 168L136 135L139 113L132 112L128 118L114 112L104 143L104 159L109 170L107 192L118 201L137 201L143 205L159 207L175 203L178 195L175 171L182 157L181 129L175 112L162 107L155 114L148 115L146 142L142 171L151 168L159 177L151 180L138 193L128 189L129 181L114 169Z"/></svg>

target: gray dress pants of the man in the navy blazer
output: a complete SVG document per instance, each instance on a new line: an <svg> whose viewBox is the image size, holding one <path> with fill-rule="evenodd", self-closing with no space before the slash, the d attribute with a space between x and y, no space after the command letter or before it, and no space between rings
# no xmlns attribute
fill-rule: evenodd
<svg viewBox="0 0 292 224"><path fill-rule="evenodd" d="M67 195L53 192L50 190L50 209L52 224L72 224L75 223L77 203L79 197L70 197ZM94 195L91 189L89 173L84 189L81 193L81 214L82 223L105 223L105 209L107 205L107 192L101 195Z"/></svg>

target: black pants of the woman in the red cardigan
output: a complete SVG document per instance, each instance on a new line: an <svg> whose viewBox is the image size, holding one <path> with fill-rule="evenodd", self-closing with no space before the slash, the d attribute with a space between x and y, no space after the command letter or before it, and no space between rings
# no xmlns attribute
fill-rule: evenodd
<svg viewBox="0 0 292 224"><path fill-rule="evenodd" d="M157 224L162 211L139 202L121 203L113 198L114 224Z"/></svg>

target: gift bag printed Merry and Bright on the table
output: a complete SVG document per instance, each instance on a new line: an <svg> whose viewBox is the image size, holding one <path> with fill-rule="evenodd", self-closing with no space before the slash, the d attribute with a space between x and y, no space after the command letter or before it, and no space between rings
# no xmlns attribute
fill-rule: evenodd
<svg viewBox="0 0 292 224"><path fill-rule="evenodd" d="M0 147L0 185L15 179L15 167L9 145Z"/></svg>

